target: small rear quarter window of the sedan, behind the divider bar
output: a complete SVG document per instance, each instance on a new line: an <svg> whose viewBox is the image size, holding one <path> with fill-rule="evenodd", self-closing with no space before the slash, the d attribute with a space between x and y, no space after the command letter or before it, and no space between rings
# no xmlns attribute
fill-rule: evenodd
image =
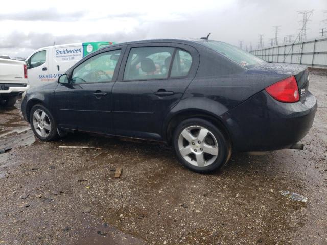
<svg viewBox="0 0 327 245"><path fill-rule="evenodd" d="M171 77L184 77L188 75L192 65L192 56L184 50L177 50L172 66Z"/></svg>

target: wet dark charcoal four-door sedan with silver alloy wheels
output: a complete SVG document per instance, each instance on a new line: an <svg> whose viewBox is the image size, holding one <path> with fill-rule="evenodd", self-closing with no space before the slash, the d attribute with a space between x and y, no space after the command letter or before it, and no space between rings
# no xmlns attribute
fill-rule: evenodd
<svg viewBox="0 0 327 245"><path fill-rule="evenodd" d="M308 69L267 63L205 39L121 43L77 62L57 82L28 90L21 110L50 141L86 131L172 145L208 173L237 151L289 148L317 109Z"/></svg>

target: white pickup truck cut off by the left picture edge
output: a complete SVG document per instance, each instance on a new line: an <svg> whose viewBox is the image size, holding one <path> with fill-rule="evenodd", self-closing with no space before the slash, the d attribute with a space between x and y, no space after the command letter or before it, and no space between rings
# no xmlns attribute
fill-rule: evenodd
<svg viewBox="0 0 327 245"><path fill-rule="evenodd" d="M0 58L0 106L13 106L29 87L25 62Z"/></svg>

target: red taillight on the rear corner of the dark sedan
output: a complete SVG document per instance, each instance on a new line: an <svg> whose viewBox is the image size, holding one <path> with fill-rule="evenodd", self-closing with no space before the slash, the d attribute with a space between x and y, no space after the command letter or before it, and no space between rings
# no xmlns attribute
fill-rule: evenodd
<svg viewBox="0 0 327 245"><path fill-rule="evenodd" d="M298 87L294 76L283 79L266 88L266 91L277 101L281 102L297 102L300 97Z"/></svg>

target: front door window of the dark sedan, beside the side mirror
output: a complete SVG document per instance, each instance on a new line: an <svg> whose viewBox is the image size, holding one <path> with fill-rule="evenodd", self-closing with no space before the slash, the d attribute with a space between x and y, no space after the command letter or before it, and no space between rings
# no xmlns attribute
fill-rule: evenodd
<svg viewBox="0 0 327 245"><path fill-rule="evenodd" d="M72 83L111 82L120 54L121 50L114 50L89 58L74 69Z"/></svg>

